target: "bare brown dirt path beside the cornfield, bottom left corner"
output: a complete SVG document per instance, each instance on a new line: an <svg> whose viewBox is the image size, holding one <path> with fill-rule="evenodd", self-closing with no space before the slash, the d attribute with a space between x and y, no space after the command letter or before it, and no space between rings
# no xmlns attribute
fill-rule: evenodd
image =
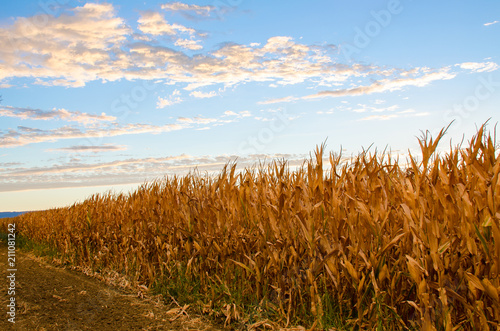
<svg viewBox="0 0 500 331"><path fill-rule="evenodd" d="M141 299L80 272L16 251L15 295L8 293L7 246L0 244L0 330L219 330L176 305ZM16 299L15 324L7 304Z"/></svg>

